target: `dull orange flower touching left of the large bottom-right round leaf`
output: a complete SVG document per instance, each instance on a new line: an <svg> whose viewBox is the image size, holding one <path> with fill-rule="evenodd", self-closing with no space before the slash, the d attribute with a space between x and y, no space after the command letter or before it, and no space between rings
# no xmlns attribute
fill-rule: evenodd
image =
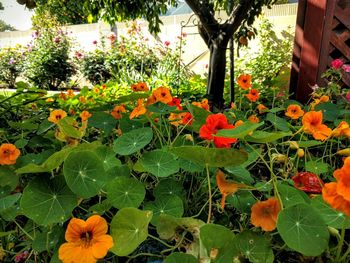
<svg viewBox="0 0 350 263"><path fill-rule="evenodd" d="M280 202L275 197L257 202L252 206L251 222L264 231L272 231L276 228L277 216L280 211Z"/></svg>

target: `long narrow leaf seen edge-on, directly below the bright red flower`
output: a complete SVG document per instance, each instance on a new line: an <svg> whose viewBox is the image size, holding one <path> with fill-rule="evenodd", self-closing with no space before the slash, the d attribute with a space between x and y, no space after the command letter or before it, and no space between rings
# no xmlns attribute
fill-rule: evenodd
<svg viewBox="0 0 350 263"><path fill-rule="evenodd" d="M198 164L211 167L238 166L247 160L247 153L226 148L182 146L169 149L175 155Z"/></svg>

